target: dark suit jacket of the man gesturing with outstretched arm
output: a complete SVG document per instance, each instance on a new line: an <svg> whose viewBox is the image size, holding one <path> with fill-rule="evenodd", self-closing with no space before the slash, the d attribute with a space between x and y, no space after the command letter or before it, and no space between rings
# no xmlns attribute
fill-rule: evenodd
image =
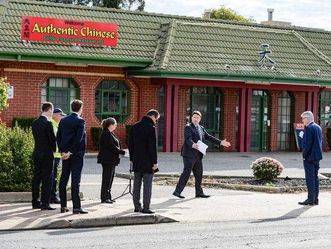
<svg viewBox="0 0 331 249"><path fill-rule="evenodd" d="M202 131L203 140L208 140L212 143L220 145L220 143L222 142L221 140L209 135L203 126L199 125L199 127ZM194 123L187 124L184 130L184 143L180 155L182 157L196 157L200 154L201 157L203 157L203 154L200 151L196 150L195 148L192 148L192 145L194 143L197 143L198 140L200 140L200 136Z"/></svg>

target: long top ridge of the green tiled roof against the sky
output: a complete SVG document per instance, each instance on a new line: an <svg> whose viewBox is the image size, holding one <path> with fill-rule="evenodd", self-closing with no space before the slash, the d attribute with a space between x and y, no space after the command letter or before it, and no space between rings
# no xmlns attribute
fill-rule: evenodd
<svg viewBox="0 0 331 249"><path fill-rule="evenodd" d="M195 20L195 21L212 21L218 23L228 23L229 25L234 24L243 24L244 26L257 26L264 27L265 29L274 28L274 29L283 29L283 30L301 30L301 31L310 31L310 32L318 32L318 33L331 33L331 31L326 30L315 30L313 28L299 28L299 27L280 27L276 25L270 24L262 24L256 22L243 22L243 21L233 21L233 20L223 20L223 19L213 19L213 18L204 18L204 17L194 17L194 16L180 16L180 15L172 15L172 14L163 14L163 13L153 13L153 12L141 12L141 11L132 11L132 10L123 10L123 9L114 9L114 8L101 8L101 7L90 7L90 6L81 6L81 5L69 5L69 4L59 4L59 3L49 3L49 2L37 2L34 0L5 0L13 3L26 3L26 4L38 4L38 5L47 5L47 6L59 6L66 8L75 8L75 9L91 9L98 11L115 11L118 13L128 13L128 14L140 14L140 15L150 15L150 16L160 16L160 17L171 17L171 18L181 18L187 20Z"/></svg>

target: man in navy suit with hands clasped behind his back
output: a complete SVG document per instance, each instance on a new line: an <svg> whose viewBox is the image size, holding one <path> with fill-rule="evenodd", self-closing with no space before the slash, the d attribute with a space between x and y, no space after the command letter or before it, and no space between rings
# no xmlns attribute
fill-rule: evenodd
<svg viewBox="0 0 331 249"><path fill-rule="evenodd" d="M59 183L61 213L68 212L67 184L71 174L72 213L86 214L81 208L79 184L86 149L85 120L80 117L83 103L78 99L71 102L72 113L61 119L57 133L59 152L62 155L62 173Z"/></svg>

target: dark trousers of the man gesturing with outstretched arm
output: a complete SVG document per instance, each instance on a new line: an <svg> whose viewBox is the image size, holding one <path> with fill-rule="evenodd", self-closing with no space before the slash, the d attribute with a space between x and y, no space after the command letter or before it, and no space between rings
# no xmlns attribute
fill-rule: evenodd
<svg viewBox="0 0 331 249"><path fill-rule="evenodd" d="M186 186L186 183L189 179L189 176L191 175L191 172L193 171L193 175L196 179L195 185L196 185L196 195L202 194L203 190L201 187L202 184L202 158L200 155L196 157L183 157L184 162L184 169L183 172L180 175L180 178L178 180L176 191L178 193L181 193L183 189Z"/></svg>

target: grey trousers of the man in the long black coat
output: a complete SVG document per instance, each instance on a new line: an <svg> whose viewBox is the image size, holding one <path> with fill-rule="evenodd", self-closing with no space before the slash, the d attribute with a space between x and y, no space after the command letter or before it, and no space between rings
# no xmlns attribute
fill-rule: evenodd
<svg viewBox="0 0 331 249"><path fill-rule="evenodd" d="M142 181L144 182L143 189L143 208L149 209L152 197L152 185L153 185L153 173L134 172L133 181L133 205L140 208L142 203L140 202L140 191L142 188Z"/></svg>

